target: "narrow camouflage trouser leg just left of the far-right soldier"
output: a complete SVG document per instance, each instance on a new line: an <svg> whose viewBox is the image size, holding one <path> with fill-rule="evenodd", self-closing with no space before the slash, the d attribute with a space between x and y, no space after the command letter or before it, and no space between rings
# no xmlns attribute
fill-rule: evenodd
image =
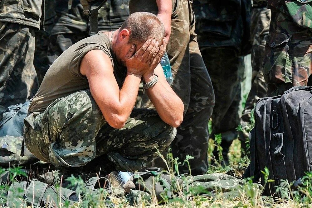
<svg viewBox="0 0 312 208"><path fill-rule="evenodd" d="M267 83L263 76L263 58L266 45L265 35L269 33L271 21L271 10L267 8L253 8L251 12L251 89L248 94L245 108L241 116L241 126L245 128L251 119L251 112L255 108L257 101L266 97L268 90ZM239 132L239 139L245 142L248 134Z"/></svg>

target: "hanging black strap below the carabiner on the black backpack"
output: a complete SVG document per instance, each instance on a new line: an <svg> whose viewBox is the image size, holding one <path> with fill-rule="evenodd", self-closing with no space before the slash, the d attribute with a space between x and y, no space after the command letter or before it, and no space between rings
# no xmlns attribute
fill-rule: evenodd
<svg viewBox="0 0 312 208"><path fill-rule="evenodd" d="M285 155L283 154L283 135L284 133L276 133L273 135L274 137L274 161L275 161L275 169L277 173L277 178L287 179L286 175L286 167L285 167Z"/></svg>

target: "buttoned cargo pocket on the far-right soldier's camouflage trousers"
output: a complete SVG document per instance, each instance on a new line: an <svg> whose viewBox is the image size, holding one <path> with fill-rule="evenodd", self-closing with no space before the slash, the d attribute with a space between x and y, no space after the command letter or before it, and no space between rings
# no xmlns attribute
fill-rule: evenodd
<svg viewBox="0 0 312 208"><path fill-rule="evenodd" d="M290 36L270 33L265 36L266 49L263 59L264 78L269 84L292 83L292 63L289 58Z"/></svg>

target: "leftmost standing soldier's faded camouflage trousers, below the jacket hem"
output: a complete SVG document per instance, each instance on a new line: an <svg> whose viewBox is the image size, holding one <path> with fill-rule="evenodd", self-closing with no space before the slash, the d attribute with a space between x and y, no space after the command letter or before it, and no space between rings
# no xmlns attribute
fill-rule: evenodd
<svg viewBox="0 0 312 208"><path fill-rule="evenodd" d="M0 22L0 118L7 107L24 103L38 90L33 65L36 30Z"/></svg>

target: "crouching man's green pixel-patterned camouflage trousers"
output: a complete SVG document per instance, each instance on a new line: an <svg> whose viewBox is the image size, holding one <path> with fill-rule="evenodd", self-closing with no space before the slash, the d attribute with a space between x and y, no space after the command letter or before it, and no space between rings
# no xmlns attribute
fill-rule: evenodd
<svg viewBox="0 0 312 208"><path fill-rule="evenodd" d="M24 120L24 141L38 159L56 167L84 166L106 154L116 170L147 166L172 142L176 129L157 112L134 109L121 129L111 127L89 90L56 99L43 112Z"/></svg>

